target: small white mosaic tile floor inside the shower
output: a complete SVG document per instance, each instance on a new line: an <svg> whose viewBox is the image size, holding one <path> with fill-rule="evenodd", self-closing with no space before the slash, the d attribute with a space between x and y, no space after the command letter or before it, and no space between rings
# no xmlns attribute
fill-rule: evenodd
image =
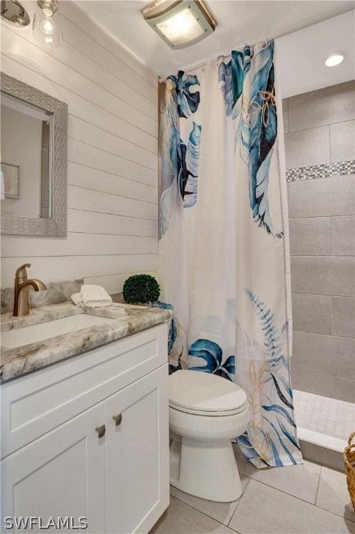
<svg viewBox="0 0 355 534"><path fill-rule="evenodd" d="M355 405L353 403L297 389L293 390L293 398L297 426L346 441L354 432Z"/></svg>

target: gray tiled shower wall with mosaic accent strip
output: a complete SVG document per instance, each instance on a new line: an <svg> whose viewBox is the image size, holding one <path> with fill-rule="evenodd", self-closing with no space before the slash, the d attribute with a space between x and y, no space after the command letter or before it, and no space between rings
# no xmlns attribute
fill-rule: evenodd
<svg viewBox="0 0 355 534"><path fill-rule="evenodd" d="M283 100L292 386L354 402L355 82Z"/></svg>

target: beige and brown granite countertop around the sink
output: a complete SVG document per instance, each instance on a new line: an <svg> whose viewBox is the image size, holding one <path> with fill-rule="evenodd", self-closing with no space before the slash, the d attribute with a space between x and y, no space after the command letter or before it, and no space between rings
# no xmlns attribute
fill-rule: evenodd
<svg viewBox="0 0 355 534"><path fill-rule="evenodd" d="M126 311L123 317L122 308ZM31 309L30 314L24 317L14 317L10 313L1 314L1 332L77 314L117 318L117 321L86 327L16 348L1 346L0 380L16 378L67 357L85 353L110 341L168 321L172 317L170 310L158 307L114 303L101 308L88 308L76 307L72 302L63 302Z"/></svg>

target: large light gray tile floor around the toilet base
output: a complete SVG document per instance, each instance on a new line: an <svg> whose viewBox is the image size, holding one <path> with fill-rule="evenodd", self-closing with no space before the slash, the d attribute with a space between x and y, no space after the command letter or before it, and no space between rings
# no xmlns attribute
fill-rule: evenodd
<svg viewBox="0 0 355 534"><path fill-rule="evenodd" d="M345 474L313 462L255 469L238 452L244 493L215 503L171 488L150 534L355 534Z"/></svg>

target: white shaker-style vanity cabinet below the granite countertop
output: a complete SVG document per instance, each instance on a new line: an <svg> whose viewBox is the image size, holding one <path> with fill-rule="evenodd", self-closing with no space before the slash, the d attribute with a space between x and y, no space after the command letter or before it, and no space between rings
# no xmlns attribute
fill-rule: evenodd
<svg viewBox="0 0 355 534"><path fill-rule="evenodd" d="M4 382L1 532L147 533L169 504L167 377L164 323Z"/></svg>

